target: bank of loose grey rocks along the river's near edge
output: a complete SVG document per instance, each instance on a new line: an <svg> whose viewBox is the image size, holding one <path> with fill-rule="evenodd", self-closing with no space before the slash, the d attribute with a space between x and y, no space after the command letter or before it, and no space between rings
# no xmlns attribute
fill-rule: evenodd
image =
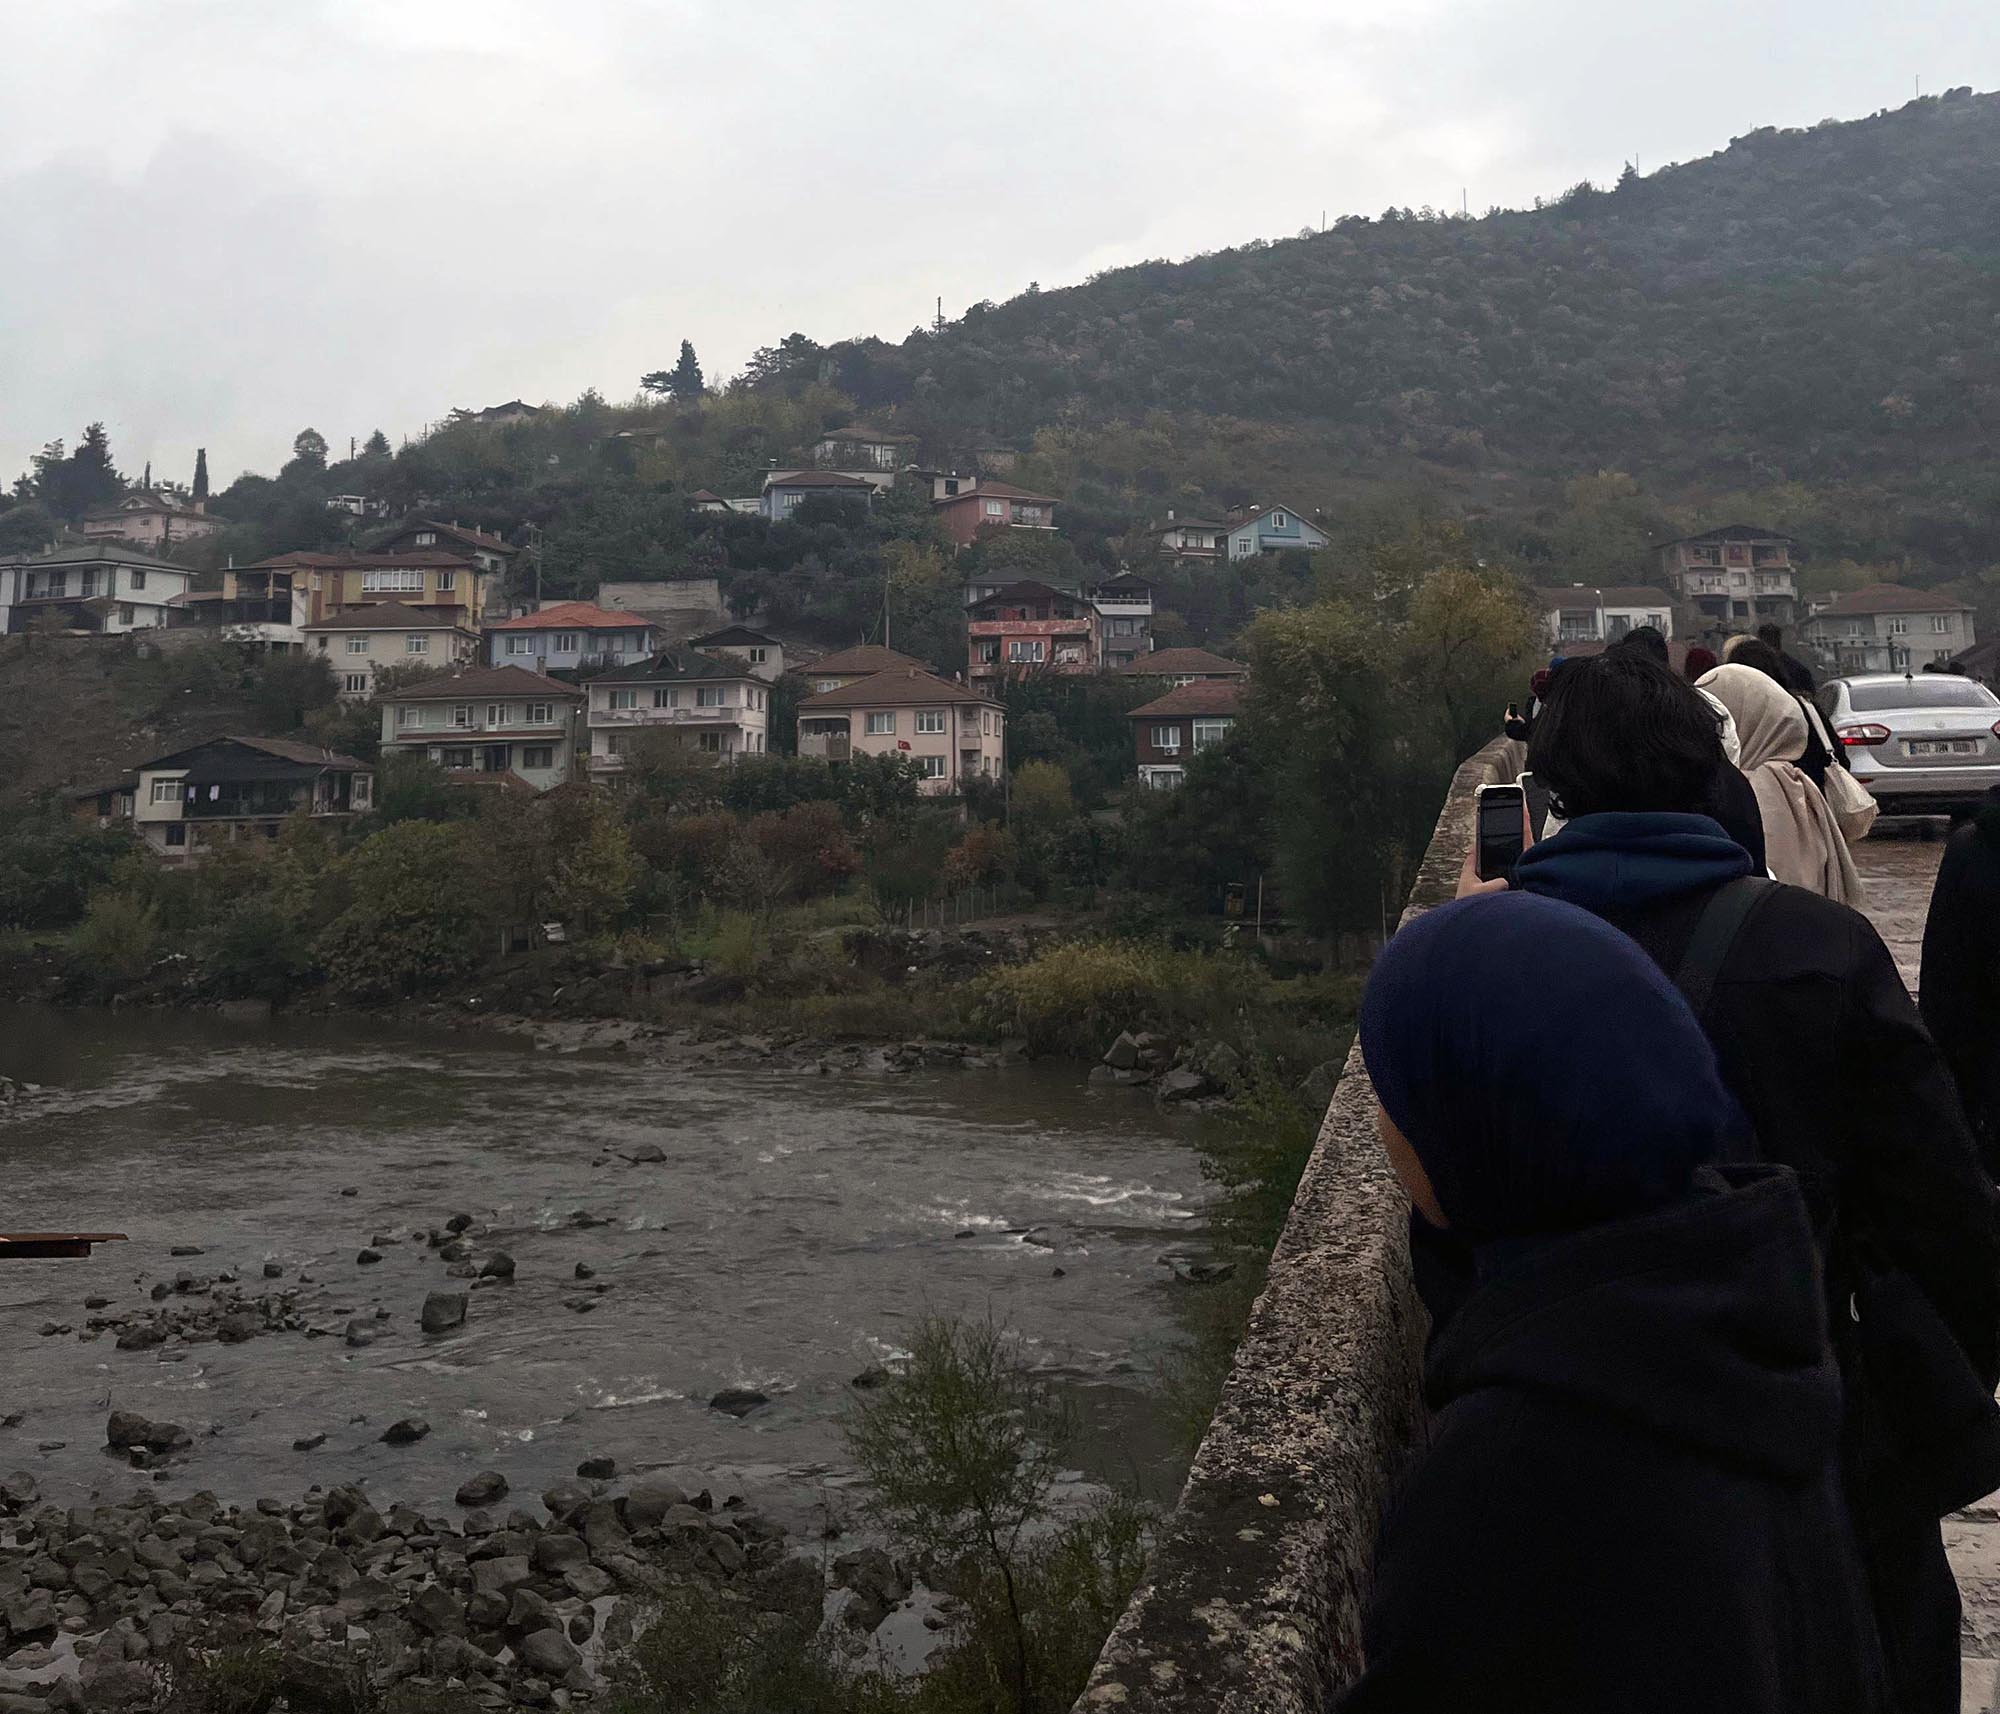
<svg viewBox="0 0 2000 1714"><path fill-rule="evenodd" d="M108 1438L172 1426L114 1416ZM532 1504L480 1472L458 1516L382 1504L358 1486L294 1504L224 1506L134 1494L40 1506L32 1476L0 1482L0 1714L138 1710L166 1700L176 1664L274 1648L286 1672L364 1674L368 1686L458 1692L484 1708L592 1700L650 1598L698 1580L770 1610L818 1612L816 1562L784 1528L702 1470L620 1484L608 1460ZM844 1556L850 1628L880 1622L880 1552ZM888 1594L910 1594L894 1568Z"/></svg>

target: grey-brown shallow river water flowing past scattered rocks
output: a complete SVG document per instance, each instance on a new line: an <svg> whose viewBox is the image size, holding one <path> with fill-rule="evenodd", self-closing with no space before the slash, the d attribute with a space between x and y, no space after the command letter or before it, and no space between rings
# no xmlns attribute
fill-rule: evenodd
<svg viewBox="0 0 2000 1714"><path fill-rule="evenodd" d="M526 1496L612 1456L800 1502L852 1478L850 1380L938 1312L1018 1330L1078 1406L1084 1468L1172 1494L1150 1376L1198 1290L1160 1264L1200 1244L1194 1120L1086 1090L1074 1066L812 1076L674 1052L0 1006L0 1074L46 1086L0 1110L0 1228L132 1238L0 1264L0 1416L22 1414L0 1428L0 1470L58 1500L130 1492L142 1478L104 1452L116 1406L194 1432L166 1492L368 1480L436 1504L472 1470ZM628 1160L648 1144L666 1160ZM412 1234L454 1212L478 1222L478 1256L504 1248L518 1272L472 1292L462 1330L426 1338L424 1294L466 1282ZM604 1224L570 1224L578 1212ZM396 1242L362 1266L376 1234ZM176 1244L204 1254L172 1258ZM134 1352L78 1338L86 1296L136 1308L176 1270L224 1268L262 1290L268 1260L274 1284L310 1276L300 1308L328 1336ZM598 1306L572 1308L596 1284ZM346 1322L378 1308L378 1342L350 1348ZM74 1330L42 1336L48 1322ZM732 1386L772 1402L710 1410ZM426 1440L380 1444L412 1414Z"/></svg>

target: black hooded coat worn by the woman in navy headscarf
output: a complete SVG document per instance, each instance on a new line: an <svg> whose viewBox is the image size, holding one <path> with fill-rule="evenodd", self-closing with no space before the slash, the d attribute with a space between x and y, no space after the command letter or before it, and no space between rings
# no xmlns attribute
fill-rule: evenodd
<svg viewBox="0 0 2000 1714"><path fill-rule="evenodd" d="M1344 1714L1886 1708L1792 1174L1478 1262Z"/></svg>

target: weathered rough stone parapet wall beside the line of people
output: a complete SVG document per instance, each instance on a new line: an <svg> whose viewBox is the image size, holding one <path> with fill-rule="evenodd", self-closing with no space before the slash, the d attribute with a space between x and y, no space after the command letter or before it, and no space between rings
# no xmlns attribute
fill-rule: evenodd
<svg viewBox="0 0 2000 1714"><path fill-rule="evenodd" d="M1458 770L1404 922L1452 896L1472 792L1512 780L1520 756L1496 740ZM1376 1528L1418 1416L1406 1216L1350 1048L1214 1422L1078 1710L1320 1714L1354 1678Z"/></svg>

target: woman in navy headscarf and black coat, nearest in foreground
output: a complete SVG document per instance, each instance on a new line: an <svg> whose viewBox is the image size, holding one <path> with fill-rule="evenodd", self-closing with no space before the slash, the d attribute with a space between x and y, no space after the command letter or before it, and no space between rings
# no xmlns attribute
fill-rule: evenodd
<svg viewBox="0 0 2000 1714"><path fill-rule="evenodd" d="M1804 1204L1710 1166L1748 1126L1662 972L1586 912L1470 898L1388 944L1360 1040L1476 1280L1342 1714L1886 1710Z"/></svg>

